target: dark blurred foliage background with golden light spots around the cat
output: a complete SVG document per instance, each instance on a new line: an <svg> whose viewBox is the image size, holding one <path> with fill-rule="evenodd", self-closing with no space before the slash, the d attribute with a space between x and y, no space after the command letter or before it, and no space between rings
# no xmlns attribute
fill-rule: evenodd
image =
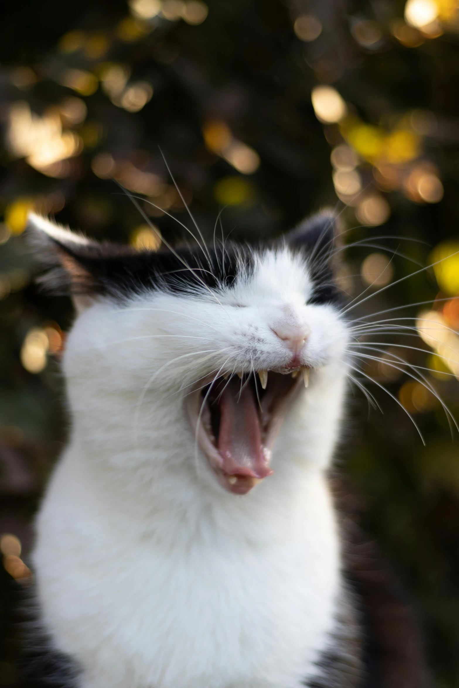
<svg viewBox="0 0 459 688"><path fill-rule="evenodd" d="M12 588L31 580L30 523L67 428L72 307L34 285L25 218L158 247L120 184L180 241L162 153L209 239L220 211L217 232L248 241L341 213L349 314L386 322L372 346L362 330L339 466L436 686L459 686L459 444L438 400L459 416L459 1L8 3L0 119L0 686L17 682Z"/></svg>

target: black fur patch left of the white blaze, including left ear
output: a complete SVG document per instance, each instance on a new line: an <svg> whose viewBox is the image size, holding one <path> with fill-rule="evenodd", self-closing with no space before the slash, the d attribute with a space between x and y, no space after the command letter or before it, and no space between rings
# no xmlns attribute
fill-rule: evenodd
<svg viewBox="0 0 459 688"><path fill-rule="evenodd" d="M103 294L119 299L156 288L178 294L206 292L231 287L241 268L250 272L253 267L253 253L235 244L205 250L200 246L136 250L89 241L59 228L54 235L52 229L47 234L33 222L28 231L51 268L41 281L55 294Z"/></svg>

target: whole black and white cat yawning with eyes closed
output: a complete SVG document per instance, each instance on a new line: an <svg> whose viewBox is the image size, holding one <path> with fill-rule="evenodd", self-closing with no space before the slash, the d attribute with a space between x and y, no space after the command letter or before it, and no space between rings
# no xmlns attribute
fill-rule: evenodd
<svg viewBox="0 0 459 688"><path fill-rule="evenodd" d="M332 216L256 249L30 228L78 313L32 557L59 685L361 685L327 479L350 360Z"/></svg>

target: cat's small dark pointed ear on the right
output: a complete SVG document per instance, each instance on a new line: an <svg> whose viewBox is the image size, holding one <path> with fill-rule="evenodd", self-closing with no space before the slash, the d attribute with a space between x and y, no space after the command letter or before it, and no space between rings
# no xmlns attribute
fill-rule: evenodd
<svg viewBox="0 0 459 688"><path fill-rule="evenodd" d="M286 235L288 246L304 249L317 259L331 257L337 238L337 216L332 211L324 211L303 220Z"/></svg>

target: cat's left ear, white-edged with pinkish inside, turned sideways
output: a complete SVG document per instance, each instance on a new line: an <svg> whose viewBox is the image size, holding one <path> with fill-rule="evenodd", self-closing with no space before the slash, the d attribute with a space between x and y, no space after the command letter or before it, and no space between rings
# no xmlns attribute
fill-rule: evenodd
<svg viewBox="0 0 459 688"><path fill-rule="evenodd" d="M92 269L100 244L36 213L29 213L27 235L48 268L39 281L55 294L70 294L78 312L92 305L100 293L100 283Z"/></svg>

